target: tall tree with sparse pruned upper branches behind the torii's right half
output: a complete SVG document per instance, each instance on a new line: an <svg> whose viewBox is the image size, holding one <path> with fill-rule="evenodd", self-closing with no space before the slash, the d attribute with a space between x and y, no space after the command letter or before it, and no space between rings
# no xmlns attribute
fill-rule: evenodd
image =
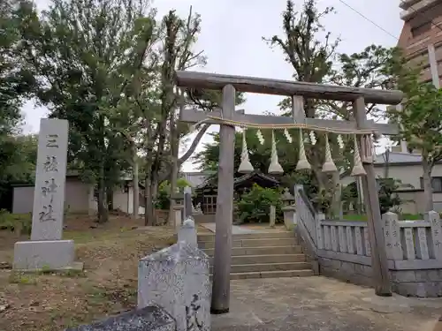
<svg viewBox="0 0 442 331"><path fill-rule="evenodd" d="M300 12L295 11L292 0L288 0L286 11L283 12L283 36L275 35L265 39L272 47L282 50L285 60L293 67L293 78L310 83L329 83L347 85L351 87L384 87L385 62L391 56L391 50L377 46L370 46L361 53L351 56L337 53L339 39L331 40L331 32L326 32L321 20L333 12L327 7L319 11L316 0L306 0ZM321 38L321 34L324 37ZM322 39L322 40L321 40ZM338 63L336 63L336 60ZM333 64L337 64L333 66ZM336 69L337 68L337 69ZM305 100L306 117L326 117L331 119L352 118L352 105L349 102L331 102L307 99ZM279 105L281 109L291 109L291 99L287 98ZM368 105L367 112L377 116L380 110L376 105ZM321 190L335 191L331 194L336 200L332 206L334 213L340 206L339 172L333 177L322 173L324 162L324 136L317 137L315 148L307 150L309 162L316 176L317 184ZM329 139L336 137L329 135ZM333 141L331 141L332 143ZM336 144L332 144L336 146ZM351 144L345 144L347 149L344 154L332 151L333 157L338 159L338 166L343 175L351 169L348 154L353 154ZM347 156L346 156L347 155Z"/></svg>

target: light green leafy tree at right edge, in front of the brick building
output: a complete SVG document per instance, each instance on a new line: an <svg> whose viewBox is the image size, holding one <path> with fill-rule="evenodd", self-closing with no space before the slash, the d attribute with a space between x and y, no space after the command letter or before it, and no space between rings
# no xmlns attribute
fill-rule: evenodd
<svg viewBox="0 0 442 331"><path fill-rule="evenodd" d="M433 210L431 171L442 160L442 89L420 82L421 68L412 68L398 49L386 68L392 83L406 94L399 109L389 109L389 117L400 124L399 139L422 154L425 210Z"/></svg>

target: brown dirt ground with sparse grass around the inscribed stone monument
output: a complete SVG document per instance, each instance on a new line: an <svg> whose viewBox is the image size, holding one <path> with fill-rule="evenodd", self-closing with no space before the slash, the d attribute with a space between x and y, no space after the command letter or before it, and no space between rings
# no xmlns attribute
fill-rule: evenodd
<svg viewBox="0 0 442 331"><path fill-rule="evenodd" d="M127 216L97 226L76 215L65 224L84 272L15 273L13 244L27 237L0 231L0 331L58 331L135 307L138 260L176 242L173 229L144 227Z"/></svg>

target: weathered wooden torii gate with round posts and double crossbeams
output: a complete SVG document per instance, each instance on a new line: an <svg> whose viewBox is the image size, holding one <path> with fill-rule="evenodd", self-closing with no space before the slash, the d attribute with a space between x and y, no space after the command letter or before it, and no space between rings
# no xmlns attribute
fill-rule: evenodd
<svg viewBox="0 0 442 331"><path fill-rule="evenodd" d="M215 256L212 290L212 313L229 312L230 271L232 261L232 214L233 214L233 156L235 124L297 124L314 125L331 130L372 129L385 135L398 133L397 125L375 124L367 119L366 103L396 105L403 94L400 91L385 91L370 88L338 87L278 79L261 79L220 75L195 71L177 71L176 82L179 87L222 90L222 107L206 113L195 109L183 109L180 121L187 123L204 122L220 124L219 165ZM293 98L293 117L250 115L235 111L235 92L258 94L288 95ZM337 121L306 118L304 99L324 99L353 102L355 121ZM361 142L361 141L360 141ZM367 208L368 228L371 245L371 266L375 291L378 296L391 296L392 289L388 276L385 239L381 225L377 185L372 160L362 157L363 169L367 176L362 177L362 190Z"/></svg>

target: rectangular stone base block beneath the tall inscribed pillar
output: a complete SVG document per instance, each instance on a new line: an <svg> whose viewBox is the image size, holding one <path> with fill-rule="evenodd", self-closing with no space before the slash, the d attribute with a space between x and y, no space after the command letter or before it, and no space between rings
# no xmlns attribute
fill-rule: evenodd
<svg viewBox="0 0 442 331"><path fill-rule="evenodd" d="M14 246L12 268L24 271L82 268L82 264L73 262L74 256L73 240L19 241Z"/></svg>

